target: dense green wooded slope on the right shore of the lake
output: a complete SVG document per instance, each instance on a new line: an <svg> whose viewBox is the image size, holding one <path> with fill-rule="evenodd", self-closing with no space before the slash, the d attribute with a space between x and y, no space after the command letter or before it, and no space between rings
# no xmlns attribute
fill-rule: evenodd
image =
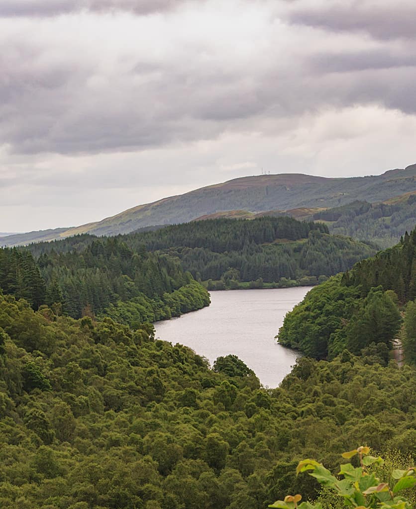
<svg viewBox="0 0 416 509"><path fill-rule="evenodd" d="M289 313L279 331L279 342L316 358L329 358L345 348L385 352L401 331L405 355L416 363L416 230L374 258L358 262L310 291Z"/></svg>

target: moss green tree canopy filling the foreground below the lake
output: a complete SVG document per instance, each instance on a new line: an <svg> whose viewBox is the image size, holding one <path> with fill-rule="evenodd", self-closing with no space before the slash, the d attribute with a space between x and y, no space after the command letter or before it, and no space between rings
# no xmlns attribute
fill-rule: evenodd
<svg viewBox="0 0 416 509"><path fill-rule="evenodd" d="M301 358L263 389L234 356L110 318L73 320L0 294L0 506L263 509L315 498L299 460L329 468L357 442L415 454L415 371L348 352Z"/></svg>

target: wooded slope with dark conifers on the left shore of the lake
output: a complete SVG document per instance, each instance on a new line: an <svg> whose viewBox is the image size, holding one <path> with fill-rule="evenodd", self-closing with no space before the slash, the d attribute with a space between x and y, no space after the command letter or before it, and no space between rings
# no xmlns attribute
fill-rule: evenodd
<svg viewBox="0 0 416 509"><path fill-rule="evenodd" d="M81 249L52 250L35 261L30 251L0 249L0 288L37 309L58 305L73 318L105 315L140 323L208 305L209 295L177 260L133 251L118 239L96 239Z"/></svg>

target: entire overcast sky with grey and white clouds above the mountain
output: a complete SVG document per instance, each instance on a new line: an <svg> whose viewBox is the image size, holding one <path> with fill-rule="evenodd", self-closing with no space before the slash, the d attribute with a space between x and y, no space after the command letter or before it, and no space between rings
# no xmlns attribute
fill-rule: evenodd
<svg viewBox="0 0 416 509"><path fill-rule="evenodd" d="M0 232L416 162L413 0L0 0Z"/></svg>

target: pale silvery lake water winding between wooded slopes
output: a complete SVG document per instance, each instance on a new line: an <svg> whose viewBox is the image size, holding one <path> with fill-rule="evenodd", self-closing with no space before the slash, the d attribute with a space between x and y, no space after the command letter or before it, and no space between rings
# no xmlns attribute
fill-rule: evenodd
<svg viewBox="0 0 416 509"><path fill-rule="evenodd" d="M181 343L206 357L237 355L261 383L277 387L291 371L298 352L277 345L274 336L285 314L308 287L211 293L211 305L179 318L155 323L156 337Z"/></svg>

